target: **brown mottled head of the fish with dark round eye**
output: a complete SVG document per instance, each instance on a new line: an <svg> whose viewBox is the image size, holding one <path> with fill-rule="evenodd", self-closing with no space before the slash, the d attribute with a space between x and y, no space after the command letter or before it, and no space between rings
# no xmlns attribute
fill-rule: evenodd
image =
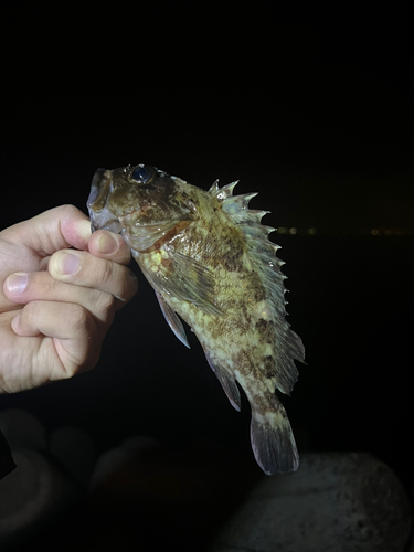
<svg viewBox="0 0 414 552"><path fill-rule="evenodd" d="M142 251L173 225L197 219L185 187L148 164L98 169L86 203L92 231L121 233L132 248Z"/></svg>

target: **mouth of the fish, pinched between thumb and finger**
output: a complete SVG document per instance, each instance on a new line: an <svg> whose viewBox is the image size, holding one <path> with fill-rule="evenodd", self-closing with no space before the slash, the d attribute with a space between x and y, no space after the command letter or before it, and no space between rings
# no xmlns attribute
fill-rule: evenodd
<svg viewBox="0 0 414 552"><path fill-rule="evenodd" d="M89 211L91 232L108 230L115 234L120 234L123 230L118 219L106 208L112 180L112 172L106 169L97 169L92 179L91 192L86 201Z"/></svg>

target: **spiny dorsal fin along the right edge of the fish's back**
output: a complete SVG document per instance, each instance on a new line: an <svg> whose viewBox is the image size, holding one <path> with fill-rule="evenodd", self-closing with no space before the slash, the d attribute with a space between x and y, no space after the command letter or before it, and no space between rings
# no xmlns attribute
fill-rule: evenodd
<svg viewBox="0 0 414 552"><path fill-rule="evenodd" d="M233 189L237 182L232 182L223 188L219 188L217 182L215 182L214 188L210 189L210 193L221 201L223 211L245 236L252 265L266 290L267 301L273 308L277 325L276 385L279 391L289 394L298 376L294 360L304 362L305 349L301 339L290 330L290 325L285 319L287 301L285 300L284 280L286 276L280 269L285 263L276 256L279 245L268 240L268 234L275 229L261 224L262 217L269 211L248 209L248 202L256 193L233 195Z"/></svg>

